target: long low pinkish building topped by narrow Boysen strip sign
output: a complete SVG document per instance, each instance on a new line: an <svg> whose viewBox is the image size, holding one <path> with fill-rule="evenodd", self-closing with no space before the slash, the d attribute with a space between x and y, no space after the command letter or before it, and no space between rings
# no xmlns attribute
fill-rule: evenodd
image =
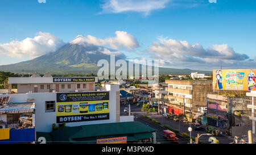
<svg viewBox="0 0 256 155"><path fill-rule="evenodd" d="M49 74L40 77L34 73L31 77L10 77L9 93L13 84L17 84L18 94L94 91L96 82L97 77L51 77Z"/></svg>

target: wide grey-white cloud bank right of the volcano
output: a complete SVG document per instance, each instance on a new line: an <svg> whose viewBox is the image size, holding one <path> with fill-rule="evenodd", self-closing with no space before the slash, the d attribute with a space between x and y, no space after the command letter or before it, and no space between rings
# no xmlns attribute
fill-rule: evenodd
<svg viewBox="0 0 256 155"><path fill-rule="evenodd" d="M161 60L161 64L172 68L212 69L229 67L239 68L256 64L249 56L234 51L227 44L213 45L207 49L202 45L189 44L187 41L178 41L159 37L148 47L147 55Z"/></svg>

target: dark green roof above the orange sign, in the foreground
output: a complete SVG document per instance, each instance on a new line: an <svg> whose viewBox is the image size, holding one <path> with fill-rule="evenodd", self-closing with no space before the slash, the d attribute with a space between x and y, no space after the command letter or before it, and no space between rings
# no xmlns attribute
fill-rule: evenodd
<svg viewBox="0 0 256 155"><path fill-rule="evenodd" d="M157 130L139 122L121 122L65 127L49 133L52 141L96 143L97 139L127 136L127 141L152 138ZM49 136L48 136L49 137Z"/></svg>

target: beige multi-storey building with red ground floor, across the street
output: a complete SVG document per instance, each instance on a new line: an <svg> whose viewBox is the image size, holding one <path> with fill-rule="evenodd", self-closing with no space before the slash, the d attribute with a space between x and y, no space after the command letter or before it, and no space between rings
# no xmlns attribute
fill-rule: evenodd
<svg viewBox="0 0 256 155"><path fill-rule="evenodd" d="M208 80L171 80L167 79L168 87L166 91L165 104L168 106L168 112L174 114L184 114L192 112L196 114L201 112L201 108L207 107L207 94L211 93L212 81ZM197 114L199 115L199 114Z"/></svg>

